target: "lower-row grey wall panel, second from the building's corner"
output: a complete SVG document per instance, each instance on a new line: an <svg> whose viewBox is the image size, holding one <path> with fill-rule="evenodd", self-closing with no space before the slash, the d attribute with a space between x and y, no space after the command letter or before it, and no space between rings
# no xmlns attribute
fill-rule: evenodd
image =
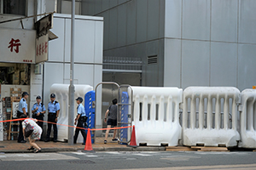
<svg viewBox="0 0 256 170"><path fill-rule="evenodd" d="M210 42L182 42L182 88L209 86Z"/></svg>

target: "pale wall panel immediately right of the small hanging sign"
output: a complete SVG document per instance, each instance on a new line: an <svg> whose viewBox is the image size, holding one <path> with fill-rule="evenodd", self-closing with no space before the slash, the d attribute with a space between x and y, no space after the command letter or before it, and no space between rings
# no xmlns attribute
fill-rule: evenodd
<svg viewBox="0 0 256 170"><path fill-rule="evenodd" d="M65 42L65 20L54 18L54 27L50 31L54 32L57 39L49 41L49 61L63 61Z"/></svg>

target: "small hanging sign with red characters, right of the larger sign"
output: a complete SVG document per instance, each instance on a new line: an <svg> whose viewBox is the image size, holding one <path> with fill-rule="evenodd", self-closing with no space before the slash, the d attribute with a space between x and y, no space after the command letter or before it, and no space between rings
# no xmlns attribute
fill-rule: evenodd
<svg viewBox="0 0 256 170"><path fill-rule="evenodd" d="M48 60L48 34L36 41L36 63Z"/></svg>

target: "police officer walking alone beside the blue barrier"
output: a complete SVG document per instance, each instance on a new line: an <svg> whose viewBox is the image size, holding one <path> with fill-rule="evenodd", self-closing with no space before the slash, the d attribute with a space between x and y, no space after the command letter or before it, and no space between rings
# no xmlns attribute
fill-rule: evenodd
<svg viewBox="0 0 256 170"><path fill-rule="evenodd" d="M85 111L84 111L84 105L82 105L83 102L83 98L79 97L77 100L77 104L78 106L78 116L75 119L74 124L76 125L77 122L77 127L85 127L85 122L87 120L87 116L85 115ZM84 141L86 141L86 133L85 130L82 128L76 128L75 134L73 136L73 143L76 144L77 143L77 139L79 137L79 131L81 131L83 137L84 137ZM84 144L84 143L83 143Z"/></svg>

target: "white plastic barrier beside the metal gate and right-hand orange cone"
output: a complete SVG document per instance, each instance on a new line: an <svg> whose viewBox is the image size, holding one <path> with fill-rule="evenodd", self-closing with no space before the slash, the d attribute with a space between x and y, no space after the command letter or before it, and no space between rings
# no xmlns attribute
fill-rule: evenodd
<svg viewBox="0 0 256 170"><path fill-rule="evenodd" d="M183 90L180 88L131 88L134 102L132 124L136 129L137 144L177 145L182 132L178 117Z"/></svg>

